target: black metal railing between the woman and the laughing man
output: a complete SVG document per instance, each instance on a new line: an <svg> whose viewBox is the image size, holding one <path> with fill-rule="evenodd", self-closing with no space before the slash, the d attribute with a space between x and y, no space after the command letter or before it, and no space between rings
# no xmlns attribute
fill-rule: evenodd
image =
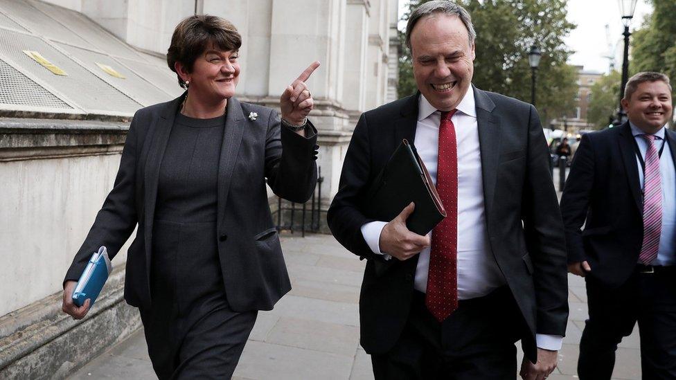
<svg viewBox="0 0 676 380"><path fill-rule="evenodd" d="M276 213L278 231L288 230L294 233L300 228L301 236L305 237L305 232L317 233L321 229L321 184L324 177L321 177L321 166L317 174L317 187L312 192L310 201L298 205L298 203L285 201L277 197ZM308 203L310 203L310 223L307 223ZM296 212L301 212L300 226L296 223ZM287 220L283 220L287 219Z"/></svg>

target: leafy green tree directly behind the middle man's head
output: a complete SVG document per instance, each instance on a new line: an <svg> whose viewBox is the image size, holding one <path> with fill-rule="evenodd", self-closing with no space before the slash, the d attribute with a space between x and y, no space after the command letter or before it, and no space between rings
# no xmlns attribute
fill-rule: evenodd
<svg viewBox="0 0 676 380"><path fill-rule="evenodd" d="M412 0L402 17L429 0ZM569 66L571 51L563 38L575 27L566 20L567 0L461 0L477 30L472 82L480 89L531 102L528 51L537 44L542 60L537 69L537 108L543 125L575 105L577 70ZM400 95L416 91L411 58L400 59Z"/></svg>

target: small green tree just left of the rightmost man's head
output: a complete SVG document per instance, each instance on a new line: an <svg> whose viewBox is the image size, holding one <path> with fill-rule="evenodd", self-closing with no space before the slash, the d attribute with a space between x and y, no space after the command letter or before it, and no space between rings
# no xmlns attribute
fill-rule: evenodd
<svg viewBox="0 0 676 380"><path fill-rule="evenodd" d="M591 86L591 101L587 108L587 122L595 129L607 127L614 119L619 105L620 73L603 75Z"/></svg>

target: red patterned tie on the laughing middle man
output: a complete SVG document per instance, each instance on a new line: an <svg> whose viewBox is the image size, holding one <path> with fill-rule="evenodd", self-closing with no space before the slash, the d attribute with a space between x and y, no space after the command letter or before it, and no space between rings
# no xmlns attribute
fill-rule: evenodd
<svg viewBox="0 0 676 380"><path fill-rule="evenodd" d="M442 112L439 125L436 190L446 209L446 217L432 230L425 294L425 305L439 322L458 308L458 148L451 121L455 111Z"/></svg>

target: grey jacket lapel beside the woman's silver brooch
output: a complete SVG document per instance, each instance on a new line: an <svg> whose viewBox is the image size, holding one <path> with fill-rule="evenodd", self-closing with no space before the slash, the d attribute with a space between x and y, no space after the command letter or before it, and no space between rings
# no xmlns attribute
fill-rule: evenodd
<svg viewBox="0 0 676 380"><path fill-rule="evenodd" d="M228 100L225 131L218 161L218 220L224 223L225 206L230 192L233 168L242 142L242 134L246 127L242 105L235 98Z"/></svg>

